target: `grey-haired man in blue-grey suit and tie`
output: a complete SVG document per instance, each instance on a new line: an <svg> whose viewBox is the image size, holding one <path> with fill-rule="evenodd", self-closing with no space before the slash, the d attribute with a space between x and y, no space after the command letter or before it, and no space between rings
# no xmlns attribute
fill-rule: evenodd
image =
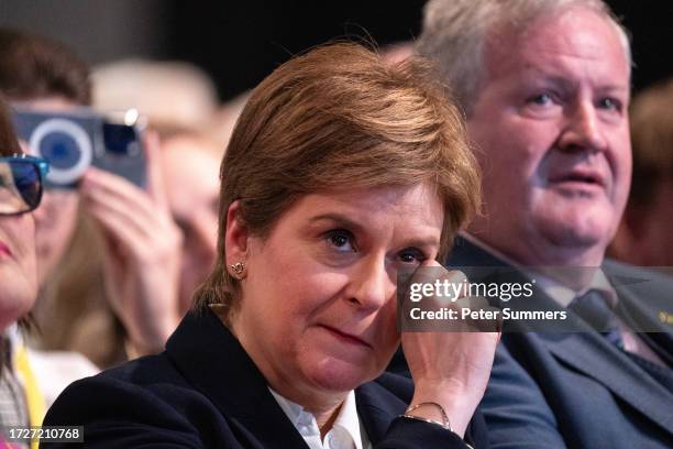
<svg viewBox="0 0 673 449"><path fill-rule="evenodd" d="M672 447L673 286L604 261L631 173L625 31L600 0L432 0L418 48L484 173L484 213L449 263L537 278L523 307L585 330L504 335L482 404L492 446Z"/></svg>

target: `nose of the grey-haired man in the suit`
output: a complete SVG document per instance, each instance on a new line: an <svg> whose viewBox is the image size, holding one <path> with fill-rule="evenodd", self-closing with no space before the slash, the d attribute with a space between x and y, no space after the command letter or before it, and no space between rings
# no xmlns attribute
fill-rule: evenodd
<svg viewBox="0 0 673 449"><path fill-rule="evenodd" d="M565 151L603 151L607 147L603 123L593 101L580 101L566 114L560 146Z"/></svg>

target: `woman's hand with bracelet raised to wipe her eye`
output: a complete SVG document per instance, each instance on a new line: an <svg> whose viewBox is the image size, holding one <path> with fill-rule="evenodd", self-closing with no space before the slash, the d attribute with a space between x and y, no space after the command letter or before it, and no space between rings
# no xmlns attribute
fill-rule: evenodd
<svg viewBox="0 0 673 449"><path fill-rule="evenodd" d="M441 282L444 280L459 284L466 282L463 273L448 272L434 261L423 266L435 267L432 270L433 274L443 272ZM423 275L417 272L412 282L434 284L437 280L437 276L432 280L423 280L421 276ZM448 307L457 310L459 317L460 309L467 306L474 310L493 310L479 298L461 298L455 303L440 302L437 297L423 298L424 310ZM416 385L410 405L424 402L440 404L451 421L453 431L463 437L490 376L495 349L500 338L499 322L482 320L477 326L475 321L460 320L443 326L442 331L401 335L405 357ZM439 409L432 406L419 407L413 410L413 415L441 421Z"/></svg>

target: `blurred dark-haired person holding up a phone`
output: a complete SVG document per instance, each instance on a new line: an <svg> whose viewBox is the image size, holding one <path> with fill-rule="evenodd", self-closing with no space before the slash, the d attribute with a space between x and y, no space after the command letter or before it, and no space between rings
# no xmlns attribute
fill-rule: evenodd
<svg viewBox="0 0 673 449"><path fill-rule="evenodd" d="M2 29L0 91L25 108L75 111L90 103L89 72L58 43ZM77 189L45 191L35 217L40 348L80 351L106 366L159 351L179 321L181 236L165 202L156 136L144 144L146 191L93 167Z"/></svg>

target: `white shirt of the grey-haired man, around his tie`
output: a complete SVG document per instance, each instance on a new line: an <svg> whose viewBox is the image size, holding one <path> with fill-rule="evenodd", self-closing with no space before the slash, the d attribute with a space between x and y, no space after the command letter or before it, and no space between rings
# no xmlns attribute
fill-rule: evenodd
<svg viewBox="0 0 673 449"><path fill-rule="evenodd" d="M481 248L482 250L500 259L503 262L520 270L528 278L534 278L536 285L562 307L567 307L573 302L573 299L575 299L577 296L584 295L589 289L600 291L604 294L604 297L606 298L610 308L615 309L615 307L617 306L619 297L617 296L617 292L615 292L615 288L610 284L603 270L596 270L589 284L582 291L575 292L574 289L562 285L561 283L552 280L551 277L541 275L538 272L533 272L525 266L521 266L520 264L517 264L511 259L507 258L499 251L490 248L488 244L484 243L472 234L461 232L461 237L467 240L470 243L476 245L477 248ZM650 347L638 336L637 332L633 332L621 320L621 318L617 317L617 320L619 325L619 331L621 332L621 337L624 339L624 349L629 352L633 352L644 359L648 359L651 362L664 365L663 361L659 358L659 355L657 355L654 351L650 349Z"/></svg>

